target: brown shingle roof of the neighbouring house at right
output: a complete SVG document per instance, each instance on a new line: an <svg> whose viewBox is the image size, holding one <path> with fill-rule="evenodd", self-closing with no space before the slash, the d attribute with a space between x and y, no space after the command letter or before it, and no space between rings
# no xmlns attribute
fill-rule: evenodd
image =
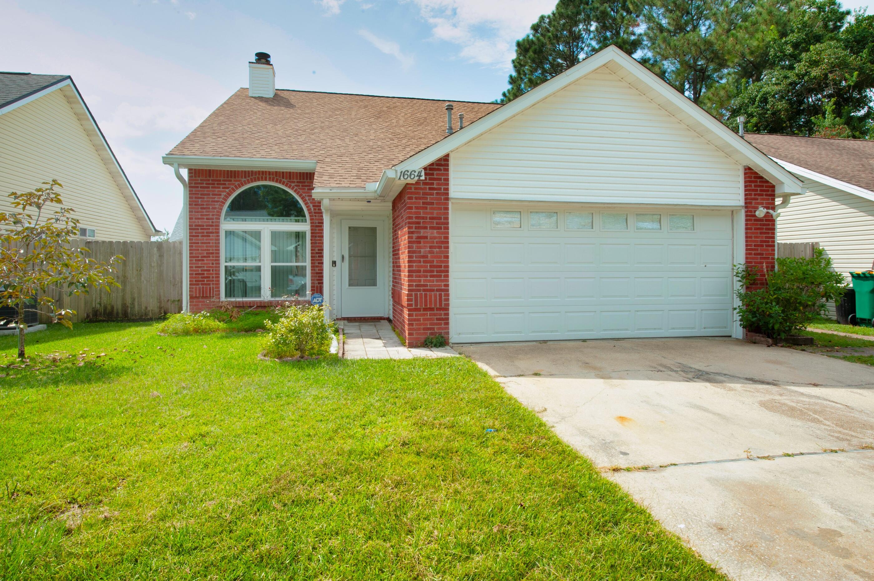
<svg viewBox="0 0 874 581"><path fill-rule="evenodd" d="M778 162L874 191L874 141L755 133L744 137ZM791 166L787 169L802 175Z"/></svg>

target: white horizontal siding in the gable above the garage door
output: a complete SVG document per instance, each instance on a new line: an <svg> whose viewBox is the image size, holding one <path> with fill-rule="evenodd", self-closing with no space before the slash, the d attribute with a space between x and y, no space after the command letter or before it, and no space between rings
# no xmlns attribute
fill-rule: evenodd
<svg viewBox="0 0 874 581"><path fill-rule="evenodd" d="M451 161L452 197L741 204L740 166L605 68L461 146Z"/></svg>

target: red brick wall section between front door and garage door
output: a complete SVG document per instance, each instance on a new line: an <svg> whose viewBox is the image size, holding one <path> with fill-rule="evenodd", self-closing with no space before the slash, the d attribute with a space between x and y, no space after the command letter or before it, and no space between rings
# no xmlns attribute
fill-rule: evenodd
<svg viewBox="0 0 874 581"><path fill-rule="evenodd" d="M449 339L449 156L392 202L392 323L410 346Z"/></svg>

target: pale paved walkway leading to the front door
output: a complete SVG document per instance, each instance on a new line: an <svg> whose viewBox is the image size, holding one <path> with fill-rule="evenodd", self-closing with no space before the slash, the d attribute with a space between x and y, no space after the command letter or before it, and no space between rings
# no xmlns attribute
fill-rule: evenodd
<svg viewBox="0 0 874 581"><path fill-rule="evenodd" d="M413 357L457 356L451 347L412 347L407 349L387 321L338 321L346 335L343 357L346 359L412 359Z"/></svg>

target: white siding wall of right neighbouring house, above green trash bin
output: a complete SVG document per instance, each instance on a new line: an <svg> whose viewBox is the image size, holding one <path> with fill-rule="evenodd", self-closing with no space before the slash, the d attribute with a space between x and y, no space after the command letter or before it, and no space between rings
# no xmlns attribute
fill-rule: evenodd
<svg viewBox="0 0 874 581"><path fill-rule="evenodd" d="M802 178L808 193L792 198L777 218L779 242L819 242L835 270L850 281L851 270L874 261L874 202ZM829 306L834 316L834 306Z"/></svg>

